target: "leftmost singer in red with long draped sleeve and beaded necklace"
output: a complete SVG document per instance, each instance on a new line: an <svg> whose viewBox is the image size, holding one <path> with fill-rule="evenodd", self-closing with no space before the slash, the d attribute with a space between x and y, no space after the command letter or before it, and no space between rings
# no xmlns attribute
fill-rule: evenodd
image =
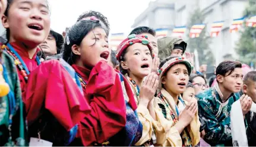
<svg viewBox="0 0 256 147"><path fill-rule="evenodd" d="M48 1L8 0L2 22L7 29L8 42L1 48L17 67L20 83L16 84L21 87L26 107L26 110L23 110L21 97L13 94L12 98L15 100L8 97L13 108L10 109L8 124L11 128L9 132L12 132L10 142L25 145L26 137L16 138L24 132L27 133L26 121L20 119L27 115L29 137L45 139L53 145L68 145L77 132L80 114L90 112L90 107L72 79L75 79L75 74L69 74L72 71L67 72L72 68L62 66L55 60L39 66L37 45L45 40L50 31ZM12 76L13 72L15 71L9 71L8 74ZM20 91L17 93L20 94ZM18 106L20 109L17 109ZM15 130L18 131L15 133ZM12 145L14 144L8 146Z"/></svg>

